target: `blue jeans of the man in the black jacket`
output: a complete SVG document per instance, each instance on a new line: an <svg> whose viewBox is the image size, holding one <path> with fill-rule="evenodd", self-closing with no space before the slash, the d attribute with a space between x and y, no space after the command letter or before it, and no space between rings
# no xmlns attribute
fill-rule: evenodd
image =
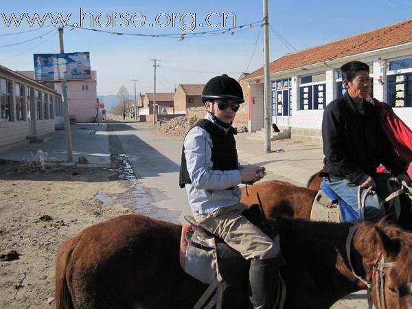
<svg viewBox="0 0 412 309"><path fill-rule="evenodd" d="M389 174L376 174L372 176L376 183L376 191L371 190L367 194L365 199L365 220L367 221L378 221L383 216L385 216L385 207L383 206L383 201L388 195L388 190L386 187L386 181L389 178ZM323 179L330 189L334 191L339 198L350 205L356 213L359 215L358 207L358 185L356 183L351 183L347 179L334 179L327 178ZM361 187L361 196L366 188Z"/></svg>

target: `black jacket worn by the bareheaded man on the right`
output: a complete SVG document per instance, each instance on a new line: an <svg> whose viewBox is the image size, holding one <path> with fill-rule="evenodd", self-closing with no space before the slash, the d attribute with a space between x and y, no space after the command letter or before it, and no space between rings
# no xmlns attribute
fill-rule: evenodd
<svg viewBox="0 0 412 309"><path fill-rule="evenodd" d="M377 106L363 101L365 115L356 111L348 93L326 106L322 121L323 172L352 183L373 176L380 163L393 174L404 168L382 131Z"/></svg>

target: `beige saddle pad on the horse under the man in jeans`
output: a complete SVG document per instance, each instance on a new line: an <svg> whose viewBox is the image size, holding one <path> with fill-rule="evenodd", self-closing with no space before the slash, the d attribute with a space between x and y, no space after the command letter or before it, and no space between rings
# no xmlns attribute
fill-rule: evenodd
<svg viewBox="0 0 412 309"><path fill-rule="evenodd" d="M317 193L312 204L310 220L341 222L339 208L332 206L332 200L328 198L321 190Z"/></svg>

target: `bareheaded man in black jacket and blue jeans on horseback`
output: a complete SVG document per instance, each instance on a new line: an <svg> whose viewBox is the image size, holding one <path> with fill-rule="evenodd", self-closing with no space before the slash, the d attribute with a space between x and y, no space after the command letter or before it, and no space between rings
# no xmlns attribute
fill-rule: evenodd
<svg viewBox="0 0 412 309"><path fill-rule="evenodd" d="M382 132L378 109L365 100L371 87L369 66L347 62L341 72L347 91L343 98L330 102L323 113L324 181L356 211L358 190L361 196L367 194L365 220L377 221L385 215L382 199L388 194L389 177L376 174L378 165L390 168L401 181L410 184L411 180ZM369 187L373 190L365 192Z"/></svg>

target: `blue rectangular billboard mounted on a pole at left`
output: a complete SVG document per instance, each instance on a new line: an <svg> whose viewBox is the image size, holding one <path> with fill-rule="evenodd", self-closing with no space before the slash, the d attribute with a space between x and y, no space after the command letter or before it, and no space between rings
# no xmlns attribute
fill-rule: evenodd
<svg viewBox="0 0 412 309"><path fill-rule="evenodd" d="M89 52L65 54L34 54L34 77L38 82L89 80Z"/></svg>

